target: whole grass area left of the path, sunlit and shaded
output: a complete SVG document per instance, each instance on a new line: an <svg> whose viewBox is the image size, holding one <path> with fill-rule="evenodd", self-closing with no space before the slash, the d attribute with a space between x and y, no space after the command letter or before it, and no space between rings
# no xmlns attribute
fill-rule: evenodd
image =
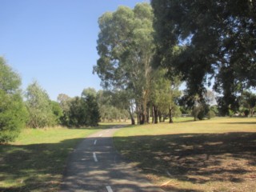
<svg viewBox="0 0 256 192"><path fill-rule="evenodd" d="M17 142L0 145L0 191L58 191L68 154L82 138L109 126L23 130Z"/></svg>

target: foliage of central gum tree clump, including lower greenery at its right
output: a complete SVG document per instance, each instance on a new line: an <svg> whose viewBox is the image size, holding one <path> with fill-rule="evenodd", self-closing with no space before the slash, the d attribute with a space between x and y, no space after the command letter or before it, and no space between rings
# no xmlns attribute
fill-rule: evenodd
<svg viewBox="0 0 256 192"><path fill-rule="evenodd" d="M107 12L98 20L100 58L94 72L102 79L102 86L125 101L121 108L128 111L133 124L134 113L138 123L143 124L150 122L152 108L154 117L159 115L160 119L174 110L175 96L170 91L172 82L164 79L161 69L152 67L155 50L153 20L154 14L148 3L138 3L133 10L119 6L118 10ZM159 77L161 80L158 81ZM165 98L160 98L163 86L166 88L162 90Z"/></svg>

